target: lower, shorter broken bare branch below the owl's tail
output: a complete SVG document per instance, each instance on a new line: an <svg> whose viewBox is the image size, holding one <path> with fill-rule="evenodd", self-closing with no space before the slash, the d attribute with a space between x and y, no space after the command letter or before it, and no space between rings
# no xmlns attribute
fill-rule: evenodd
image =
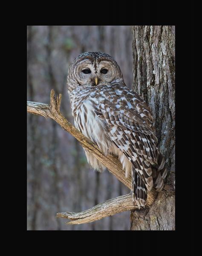
<svg viewBox="0 0 202 256"><path fill-rule="evenodd" d="M134 204L132 194L128 194L107 200L104 203L97 204L91 209L83 212L58 212L57 217L68 218L70 221L66 222L65 224L84 224L112 216L118 212L125 212L135 209L139 208Z"/></svg>

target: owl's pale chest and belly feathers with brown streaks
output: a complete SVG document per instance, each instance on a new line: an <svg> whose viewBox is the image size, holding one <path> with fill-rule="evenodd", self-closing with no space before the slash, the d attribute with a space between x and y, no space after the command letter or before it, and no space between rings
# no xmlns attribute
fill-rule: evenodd
<svg viewBox="0 0 202 256"><path fill-rule="evenodd" d="M107 130L107 123L99 119L95 114L95 106L98 107L98 99L95 98L95 91L89 88L84 90L74 90L70 95L72 107L72 116L74 116L75 127L82 132L89 140L94 142L101 151L107 154L113 154L120 160L126 177L132 171L132 165L125 155L116 147L110 137L110 131ZM103 172L106 167L103 166L96 157L85 150L85 154L90 166L98 172Z"/></svg>

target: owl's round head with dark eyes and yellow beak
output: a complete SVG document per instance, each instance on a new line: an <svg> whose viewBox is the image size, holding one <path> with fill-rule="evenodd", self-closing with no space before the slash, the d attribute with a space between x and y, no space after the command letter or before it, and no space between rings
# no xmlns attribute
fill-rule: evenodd
<svg viewBox="0 0 202 256"><path fill-rule="evenodd" d="M69 66L68 92L80 87L94 87L112 82L124 83L121 69L116 61L104 52L84 52Z"/></svg>

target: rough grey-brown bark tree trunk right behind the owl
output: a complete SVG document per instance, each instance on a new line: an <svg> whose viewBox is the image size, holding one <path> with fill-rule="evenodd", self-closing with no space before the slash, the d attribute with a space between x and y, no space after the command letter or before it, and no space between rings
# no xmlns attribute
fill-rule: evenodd
<svg viewBox="0 0 202 256"><path fill-rule="evenodd" d="M149 105L167 163L164 189L132 211L130 230L175 230L175 26L133 26L133 89Z"/></svg>

